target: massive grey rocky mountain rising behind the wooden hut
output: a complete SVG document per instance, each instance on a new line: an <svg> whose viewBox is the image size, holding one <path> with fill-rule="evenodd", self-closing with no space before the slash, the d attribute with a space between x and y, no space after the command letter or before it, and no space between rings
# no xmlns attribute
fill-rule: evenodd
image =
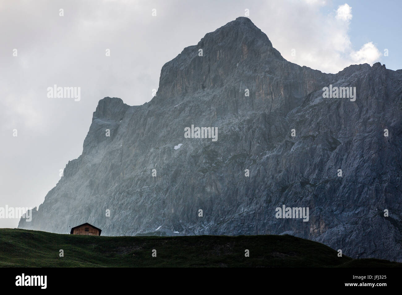
<svg viewBox="0 0 402 295"><path fill-rule="evenodd" d="M402 261L401 82L380 63L300 67L237 18L166 63L149 103L100 100L82 155L18 227L285 233ZM356 87L355 101L324 98L330 85ZM217 140L186 138L192 125L217 127ZM309 208L308 221L277 218L283 205Z"/></svg>

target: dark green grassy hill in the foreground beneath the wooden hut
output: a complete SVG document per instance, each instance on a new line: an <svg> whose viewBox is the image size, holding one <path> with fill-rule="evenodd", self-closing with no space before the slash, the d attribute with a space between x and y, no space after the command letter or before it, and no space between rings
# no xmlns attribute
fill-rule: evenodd
<svg viewBox="0 0 402 295"><path fill-rule="evenodd" d="M64 257L59 257L59 250ZM152 250L156 249L156 257ZM250 257L244 256L244 250ZM293 236L78 236L0 229L0 267L402 267Z"/></svg>

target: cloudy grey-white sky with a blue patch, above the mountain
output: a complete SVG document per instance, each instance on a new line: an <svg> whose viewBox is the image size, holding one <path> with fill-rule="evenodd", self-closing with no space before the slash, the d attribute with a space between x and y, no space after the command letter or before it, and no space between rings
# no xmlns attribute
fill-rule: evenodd
<svg viewBox="0 0 402 295"><path fill-rule="evenodd" d="M100 99L150 101L164 63L238 16L288 61L337 73L378 61L402 69L401 8L386 0L0 0L0 209L43 202L81 155ZM49 98L53 85L80 87L80 100ZM0 216L0 227L18 221Z"/></svg>

